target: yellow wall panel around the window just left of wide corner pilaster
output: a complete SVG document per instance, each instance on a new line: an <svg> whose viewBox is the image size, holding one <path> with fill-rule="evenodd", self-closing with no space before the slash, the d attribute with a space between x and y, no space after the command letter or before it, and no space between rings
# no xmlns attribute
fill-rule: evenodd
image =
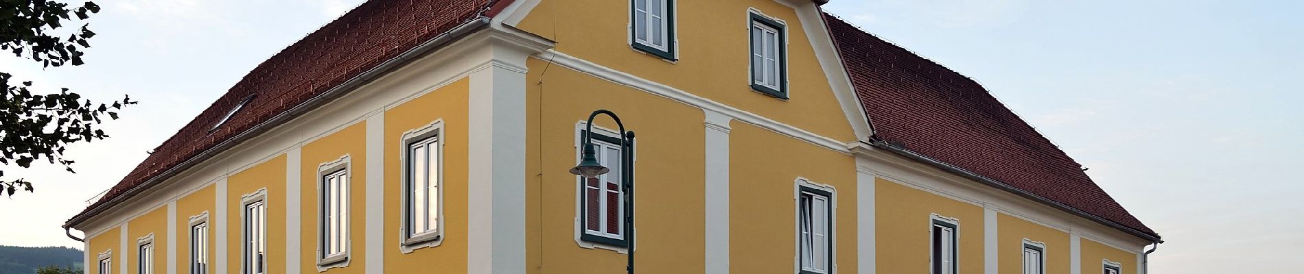
<svg viewBox="0 0 1304 274"><path fill-rule="evenodd" d="M463 78L385 112L385 271L467 273L467 96ZM403 132L443 119L443 242L403 253ZM356 164L356 162L355 162ZM360 205L360 204L356 204ZM361 248L355 244L356 248Z"/></svg>

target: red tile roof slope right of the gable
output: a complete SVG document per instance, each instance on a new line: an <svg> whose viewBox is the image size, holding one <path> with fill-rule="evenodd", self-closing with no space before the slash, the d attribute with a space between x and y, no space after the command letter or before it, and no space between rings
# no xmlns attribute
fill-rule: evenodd
<svg viewBox="0 0 1304 274"><path fill-rule="evenodd" d="M1158 238L973 79L824 18L875 138Z"/></svg>

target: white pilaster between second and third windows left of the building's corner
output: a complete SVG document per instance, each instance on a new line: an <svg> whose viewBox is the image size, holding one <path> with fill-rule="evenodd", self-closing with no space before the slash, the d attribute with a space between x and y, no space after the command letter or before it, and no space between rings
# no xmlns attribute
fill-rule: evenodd
<svg viewBox="0 0 1304 274"><path fill-rule="evenodd" d="M300 177L303 174L299 170L303 168L303 151L300 148L299 144L295 144L293 148L286 152L286 273L299 273L301 268L299 262L303 260L300 257L303 255L299 251L300 242L303 242L299 238L303 231L303 221L300 221L303 217L300 214L303 209L303 203L300 201L303 200L300 196L300 188L303 188Z"/></svg>

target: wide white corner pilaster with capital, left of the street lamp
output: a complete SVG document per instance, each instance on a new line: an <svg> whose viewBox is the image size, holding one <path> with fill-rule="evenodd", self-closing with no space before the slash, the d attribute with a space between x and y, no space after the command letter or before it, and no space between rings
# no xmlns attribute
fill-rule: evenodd
<svg viewBox="0 0 1304 274"><path fill-rule="evenodd" d="M501 26L471 34L467 271L526 273L526 60L550 44Z"/></svg>

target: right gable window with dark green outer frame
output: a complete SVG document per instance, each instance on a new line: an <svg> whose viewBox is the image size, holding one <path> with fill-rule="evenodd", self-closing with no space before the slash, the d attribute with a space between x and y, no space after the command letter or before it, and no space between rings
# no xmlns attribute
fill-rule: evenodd
<svg viewBox="0 0 1304 274"><path fill-rule="evenodd" d="M788 99L786 36L784 25L751 14L751 88Z"/></svg>

